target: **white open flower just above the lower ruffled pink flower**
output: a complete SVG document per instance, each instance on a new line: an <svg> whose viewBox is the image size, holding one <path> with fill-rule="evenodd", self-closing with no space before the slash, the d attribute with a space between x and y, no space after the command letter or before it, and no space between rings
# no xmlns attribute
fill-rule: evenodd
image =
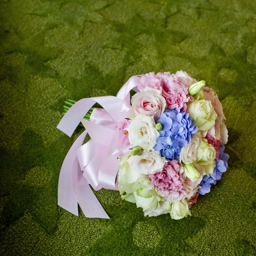
<svg viewBox="0 0 256 256"><path fill-rule="evenodd" d="M143 174L154 174L163 171L166 162L159 151L143 151L139 156L131 156L128 160L132 170Z"/></svg>

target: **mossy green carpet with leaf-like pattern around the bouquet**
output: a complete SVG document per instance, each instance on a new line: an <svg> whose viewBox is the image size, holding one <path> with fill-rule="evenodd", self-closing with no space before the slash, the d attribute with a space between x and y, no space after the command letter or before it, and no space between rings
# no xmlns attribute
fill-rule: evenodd
<svg viewBox="0 0 256 256"><path fill-rule="evenodd" d="M0 255L256 255L256 1L1 0L0 17ZM58 207L82 132L56 129L64 99L177 70L218 93L230 134L230 168L192 216L143 217L104 189L110 220Z"/></svg>

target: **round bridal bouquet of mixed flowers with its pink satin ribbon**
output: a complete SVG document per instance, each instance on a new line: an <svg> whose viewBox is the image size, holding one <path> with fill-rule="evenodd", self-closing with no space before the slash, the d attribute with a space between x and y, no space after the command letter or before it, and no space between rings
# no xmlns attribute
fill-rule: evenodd
<svg viewBox="0 0 256 256"><path fill-rule="evenodd" d="M130 101L131 89L137 93ZM96 102L103 108L91 108ZM90 184L118 189L145 216L181 219L227 170L221 102L186 72L133 76L116 97L66 103L72 107L58 128L70 136L80 121L86 128L64 160L58 185L58 204L76 215L79 203L85 216L109 218ZM91 140L82 145L87 132Z"/></svg>

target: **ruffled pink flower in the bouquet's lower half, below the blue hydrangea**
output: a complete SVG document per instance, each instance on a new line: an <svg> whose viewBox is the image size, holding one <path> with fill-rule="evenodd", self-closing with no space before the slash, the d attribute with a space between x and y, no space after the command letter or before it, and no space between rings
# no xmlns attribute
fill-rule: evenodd
<svg viewBox="0 0 256 256"><path fill-rule="evenodd" d="M182 200L189 189L183 187L183 167L178 165L177 160L168 161L162 172L156 172L149 175L153 189L157 187L158 195L169 202L178 202Z"/></svg>

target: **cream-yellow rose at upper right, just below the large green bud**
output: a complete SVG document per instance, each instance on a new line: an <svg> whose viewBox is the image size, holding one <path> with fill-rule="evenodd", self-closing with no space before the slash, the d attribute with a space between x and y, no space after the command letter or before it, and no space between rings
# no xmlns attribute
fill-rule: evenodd
<svg viewBox="0 0 256 256"><path fill-rule="evenodd" d="M187 112L195 121L195 125L199 130L207 131L215 125L217 113L212 107L212 103L209 100L201 99L201 92L199 94L199 96L196 95L194 97L195 100L193 102L187 103Z"/></svg>

